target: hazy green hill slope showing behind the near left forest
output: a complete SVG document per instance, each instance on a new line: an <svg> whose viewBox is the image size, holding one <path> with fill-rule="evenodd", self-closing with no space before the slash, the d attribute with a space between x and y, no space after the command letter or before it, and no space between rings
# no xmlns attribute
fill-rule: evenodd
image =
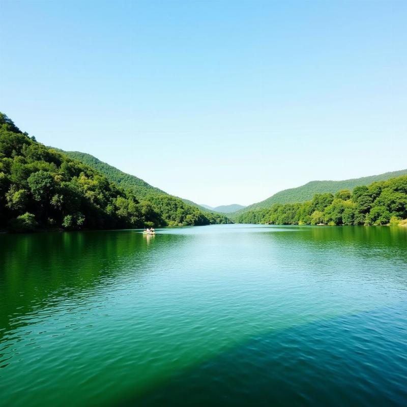
<svg viewBox="0 0 407 407"><path fill-rule="evenodd" d="M167 194L159 188L153 187L146 181L135 177L134 175L127 174L120 169L113 167L91 154L81 153L79 151L63 151L58 150L75 160L89 165L90 167L101 172L109 181L114 182L122 188L132 190L135 195L143 197L150 194Z"/></svg>

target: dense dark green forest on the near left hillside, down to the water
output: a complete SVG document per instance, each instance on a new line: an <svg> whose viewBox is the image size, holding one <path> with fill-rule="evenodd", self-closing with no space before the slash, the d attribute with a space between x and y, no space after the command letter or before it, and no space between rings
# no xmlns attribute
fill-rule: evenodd
<svg viewBox="0 0 407 407"><path fill-rule="evenodd" d="M0 229L103 229L228 223L170 195L137 195L47 148L0 112Z"/></svg>

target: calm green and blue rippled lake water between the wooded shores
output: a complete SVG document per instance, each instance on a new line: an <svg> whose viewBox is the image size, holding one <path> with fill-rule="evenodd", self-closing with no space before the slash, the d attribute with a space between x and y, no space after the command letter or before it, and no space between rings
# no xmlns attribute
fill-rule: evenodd
<svg viewBox="0 0 407 407"><path fill-rule="evenodd" d="M406 405L407 228L0 235L0 405Z"/></svg>

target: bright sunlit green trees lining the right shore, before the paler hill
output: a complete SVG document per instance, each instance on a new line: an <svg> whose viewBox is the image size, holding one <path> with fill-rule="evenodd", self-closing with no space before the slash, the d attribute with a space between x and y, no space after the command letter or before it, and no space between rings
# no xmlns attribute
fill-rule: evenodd
<svg viewBox="0 0 407 407"><path fill-rule="evenodd" d="M316 194L302 203L275 203L238 216L238 223L283 225L384 225L407 218L407 176Z"/></svg>

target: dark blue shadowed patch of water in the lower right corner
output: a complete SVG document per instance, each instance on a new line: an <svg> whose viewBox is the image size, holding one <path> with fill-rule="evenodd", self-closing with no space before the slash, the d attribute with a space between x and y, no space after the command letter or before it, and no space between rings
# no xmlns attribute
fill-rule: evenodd
<svg viewBox="0 0 407 407"><path fill-rule="evenodd" d="M406 313L403 302L256 336L117 407L403 406Z"/></svg>

